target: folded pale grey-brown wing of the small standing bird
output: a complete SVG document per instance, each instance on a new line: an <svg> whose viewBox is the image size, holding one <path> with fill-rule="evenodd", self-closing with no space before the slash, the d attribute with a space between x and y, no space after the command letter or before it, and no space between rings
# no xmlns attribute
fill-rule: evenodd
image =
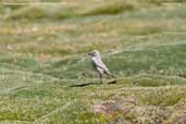
<svg viewBox="0 0 186 124"><path fill-rule="evenodd" d="M96 67L99 67L99 69L103 70L106 73L110 74L108 67L106 66L106 64L102 62L101 59L99 59L99 58L94 58L94 59L92 59L92 62L94 62L94 64L96 65Z"/></svg>

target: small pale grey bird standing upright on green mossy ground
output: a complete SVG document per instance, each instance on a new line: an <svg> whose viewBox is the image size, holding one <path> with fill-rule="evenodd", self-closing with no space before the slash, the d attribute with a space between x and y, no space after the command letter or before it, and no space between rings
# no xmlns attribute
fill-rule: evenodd
<svg viewBox="0 0 186 124"><path fill-rule="evenodd" d="M89 55L91 57L92 66L99 73L99 77L100 77L100 83L101 84L102 84L103 74L113 77L113 75L111 75L110 71L106 66L106 64L102 62L101 55L100 55L98 50L94 50L94 51L89 52Z"/></svg>

